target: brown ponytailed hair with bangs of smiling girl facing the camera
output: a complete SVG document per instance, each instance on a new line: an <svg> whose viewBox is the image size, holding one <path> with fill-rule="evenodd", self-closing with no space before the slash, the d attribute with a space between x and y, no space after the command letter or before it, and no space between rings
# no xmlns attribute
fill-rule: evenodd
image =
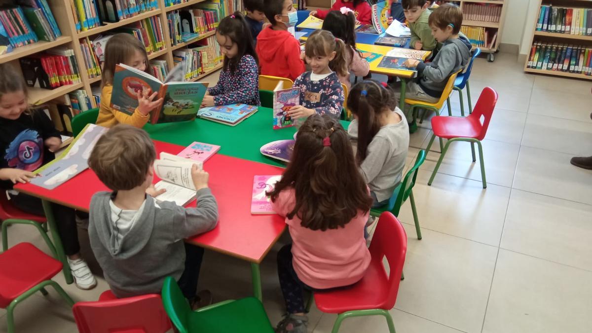
<svg viewBox="0 0 592 333"><path fill-rule="evenodd" d="M335 38L330 31L315 30L304 44L304 54L307 57L326 57L335 51L335 57L329 62L329 68L338 75L348 75L348 64L345 60L345 43Z"/></svg>

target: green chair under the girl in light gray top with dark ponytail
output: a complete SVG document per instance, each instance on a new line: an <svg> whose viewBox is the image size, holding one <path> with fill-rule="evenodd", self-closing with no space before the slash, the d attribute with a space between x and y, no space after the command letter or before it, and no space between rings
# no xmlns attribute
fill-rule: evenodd
<svg viewBox="0 0 592 333"><path fill-rule="evenodd" d="M419 219L417 218L417 209L415 207L415 199L413 198L413 185L417 179L417 171L423 161L426 160L426 151L421 150L417 153L415 165L411 168L403 181L392 191L392 196L388 200L388 204L382 207L373 208L370 210L370 215L374 217L380 216L383 212L391 212L394 216L398 216L401 210L401 205L409 198L411 203L411 212L413 212L413 220L415 222L415 230L417 232L417 239L422 239L422 231L419 229ZM403 189L403 191L401 191Z"/></svg>

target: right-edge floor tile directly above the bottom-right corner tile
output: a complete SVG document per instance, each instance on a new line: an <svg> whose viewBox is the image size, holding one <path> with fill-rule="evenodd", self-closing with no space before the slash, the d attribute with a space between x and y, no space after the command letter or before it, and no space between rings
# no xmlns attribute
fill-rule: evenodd
<svg viewBox="0 0 592 333"><path fill-rule="evenodd" d="M592 271L592 206L512 190L501 248Z"/></svg>

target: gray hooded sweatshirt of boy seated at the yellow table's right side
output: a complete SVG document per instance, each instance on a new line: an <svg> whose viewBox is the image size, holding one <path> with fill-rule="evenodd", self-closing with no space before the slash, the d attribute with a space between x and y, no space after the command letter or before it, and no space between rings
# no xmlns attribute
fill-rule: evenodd
<svg viewBox="0 0 592 333"><path fill-rule="evenodd" d="M450 75L464 68L470 57L471 42L464 35L446 40L432 62L417 65L419 85L426 94L440 98Z"/></svg>

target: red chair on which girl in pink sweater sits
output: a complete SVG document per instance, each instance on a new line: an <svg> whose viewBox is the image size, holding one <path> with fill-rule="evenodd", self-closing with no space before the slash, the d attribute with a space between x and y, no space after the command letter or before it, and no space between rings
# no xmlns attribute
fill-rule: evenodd
<svg viewBox="0 0 592 333"><path fill-rule="evenodd" d="M370 244L372 260L362 280L348 289L314 292L314 302L319 310L339 313L332 333L339 331L343 319L372 315L385 316L389 331L395 333L388 310L397 300L407 252L407 234L391 212L380 215L376 228ZM390 273L382 264L384 257L387 257Z"/></svg>

